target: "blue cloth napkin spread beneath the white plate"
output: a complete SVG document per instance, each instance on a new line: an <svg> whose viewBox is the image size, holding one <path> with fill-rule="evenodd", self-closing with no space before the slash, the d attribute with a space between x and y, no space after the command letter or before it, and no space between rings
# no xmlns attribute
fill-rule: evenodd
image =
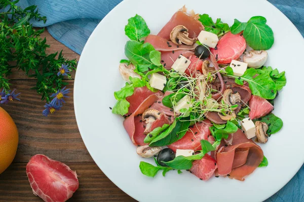
<svg viewBox="0 0 304 202"><path fill-rule="evenodd" d="M22 8L37 5L39 13L47 16L47 23L35 22L37 27L48 26L50 34L59 42L81 54L92 31L100 20L122 0L20 0ZM280 9L304 36L304 0L269 0ZM303 155L303 154L299 154ZM304 165L298 173L269 199L270 201L304 201Z"/></svg>

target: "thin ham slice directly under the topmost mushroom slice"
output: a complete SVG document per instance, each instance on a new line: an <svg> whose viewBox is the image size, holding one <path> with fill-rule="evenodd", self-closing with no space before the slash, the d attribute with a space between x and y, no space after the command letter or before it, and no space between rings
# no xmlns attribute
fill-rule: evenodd
<svg viewBox="0 0 304 202"><path fill-rule="evenodd" d="M176 45L173 44L171 41L161 38L157 35L149 35L145 38L144 43L150 43L155 50L158 51L176 51L176 50L194 50L197 47L197 44L193 46L188 45Z"/></svg>

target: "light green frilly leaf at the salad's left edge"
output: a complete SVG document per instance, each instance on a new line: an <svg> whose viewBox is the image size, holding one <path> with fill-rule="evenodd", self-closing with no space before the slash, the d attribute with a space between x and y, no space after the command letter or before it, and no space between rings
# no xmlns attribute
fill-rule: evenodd
<svg viewBox="0 0 304 202"><path fill-rule="evenodd" d="M143 87L146 85L146 81L139 78L130 77L130 83L126 83L121 90L114 92L115 98L118 102L112 109L113 114L125 115L129 111L130 103L126 100L126 97L131 96L134 93L134 89L137 87Z"/></svg>

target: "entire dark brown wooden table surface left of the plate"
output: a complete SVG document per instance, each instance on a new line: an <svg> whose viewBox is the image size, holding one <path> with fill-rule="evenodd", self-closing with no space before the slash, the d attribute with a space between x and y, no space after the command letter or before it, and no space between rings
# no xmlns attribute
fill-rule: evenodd
<svg viewBox="0 0 304 202"><path fill-rule="evenodd" d="M48 53L63 49L66 58L79 59L80 55L53 39L47 30L42 34L44 37L51 45ZM0 201L42 201L33 194L25 172L26 163L35 154L64 162L77 172L80 186L68 201L135 201L102 173L86 149L74 115L73 80L68 81L71 93L62 110L44 117L45 102L35 90L30 90L36 81L17 71L9 79L12 88L21 92L21 101L1 107L18 127L19 146L13 163L0 174Z"/></svg>

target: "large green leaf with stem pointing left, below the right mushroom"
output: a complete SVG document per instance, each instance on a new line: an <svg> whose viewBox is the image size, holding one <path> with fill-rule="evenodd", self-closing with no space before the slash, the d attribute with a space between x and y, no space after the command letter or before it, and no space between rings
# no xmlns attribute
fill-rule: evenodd
<svg viewBox="0 0 304 202"><path fill-rule="evenodd" d="M247 81L253 95L257 95L265 99L274 99L276 97L276 84L268 74L258 75L255 69L249 68L241 77L232 75L227 75L227 77L235 78L235 82L239 85L243 85L243 81Z"/></svg>

